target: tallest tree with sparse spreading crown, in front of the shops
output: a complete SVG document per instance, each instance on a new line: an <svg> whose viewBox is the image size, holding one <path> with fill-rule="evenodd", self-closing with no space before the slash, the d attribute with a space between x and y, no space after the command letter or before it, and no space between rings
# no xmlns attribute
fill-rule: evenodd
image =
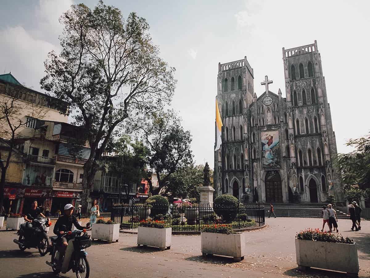
<svg viewBox="0 0 370 278"><path fill-rule="evenodd" d="M129 115L161 109L175 89L175 69L159 57L149 24L130 13L99 1L90 10L72 5L61 17L61 52L51 51L40 81L57 99L70 104L74 123L84 127L91 153L84 164L83 213L88 207L94 175L108 141Z"/></svg>

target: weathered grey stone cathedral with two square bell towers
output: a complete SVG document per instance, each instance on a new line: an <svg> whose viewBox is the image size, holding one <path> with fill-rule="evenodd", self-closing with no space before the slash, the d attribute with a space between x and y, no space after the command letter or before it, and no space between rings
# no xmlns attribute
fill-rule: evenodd
<svg viewBox="0 0 370 278"><path fill-rule="evenodd" d="M255 90L246 57L218 64L216 99L223 127L214 157L215 193L244 203L318 203L328 195L342 202L317 42L283 48L282 54L286 97L280 89L269 90L268 76Z"/></svg>

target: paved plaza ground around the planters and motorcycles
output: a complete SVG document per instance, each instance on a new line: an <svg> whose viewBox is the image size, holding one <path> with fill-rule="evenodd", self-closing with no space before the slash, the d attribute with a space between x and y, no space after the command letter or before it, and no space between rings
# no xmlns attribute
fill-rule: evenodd
<svg viewBox="0 0 370 278"><path fill-rule="evenodd" d="M319 218L266 218L268 226L246 232L247 254L241 262L214 256L202 258L199 235L172 236L171 249L137 248L136 234L122 234L120 241L105 244L95 241L87 249L90 277L346 277L333 271L300 271L296 265L294 237L305 228L321 228ZM84 224L84 223L83 223ZM360 262L359 277L370 277L370 221L361 223L359 232L350 231L351 223L339 219L340 233L354 239ZM50 232L51 235L51 232ZM37 249L19 251L14 231L0 231L0 277L55 277ZM340 256L341 254L336 254ZM75 277L73 272L60 277Z"/></svg>

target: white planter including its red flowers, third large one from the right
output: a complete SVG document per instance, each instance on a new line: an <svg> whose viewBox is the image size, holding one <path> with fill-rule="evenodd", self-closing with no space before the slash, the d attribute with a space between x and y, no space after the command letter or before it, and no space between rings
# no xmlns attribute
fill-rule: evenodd
<svg viewBox="0 0 370 278"><path fill-rule="evenodd" d="M172 228L167 228L165 221L142 220L138 226L138 247L154 246L160 250L171 248Z"/></svg>

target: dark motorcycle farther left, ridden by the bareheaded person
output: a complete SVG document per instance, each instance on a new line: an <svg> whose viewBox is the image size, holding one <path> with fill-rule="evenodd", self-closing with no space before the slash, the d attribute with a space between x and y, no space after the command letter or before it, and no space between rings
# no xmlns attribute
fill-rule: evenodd
<svg viewBox="0 0 370 278"><path fill-rule="evenodd" d="M18 239L13 242L18 244L21 251L27 248L37 248L41 256L45 256L50 245L49 236L47 235L47 227L51 226L51 221L47 218L35 218L31 224L20 224L20 229L17 232Z"/></svg>

